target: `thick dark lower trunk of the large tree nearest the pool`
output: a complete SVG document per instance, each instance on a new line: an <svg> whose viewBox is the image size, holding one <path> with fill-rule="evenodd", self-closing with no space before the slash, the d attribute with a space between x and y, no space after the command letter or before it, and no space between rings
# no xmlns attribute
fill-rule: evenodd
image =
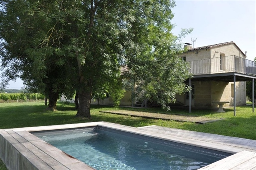
<svg viewBox="0 0 256 170"><path fill-rule="evenodd" d="M78 92L79 107L76 117L91 119L90 115L90 102L91 102L91 91Z"/></svg>

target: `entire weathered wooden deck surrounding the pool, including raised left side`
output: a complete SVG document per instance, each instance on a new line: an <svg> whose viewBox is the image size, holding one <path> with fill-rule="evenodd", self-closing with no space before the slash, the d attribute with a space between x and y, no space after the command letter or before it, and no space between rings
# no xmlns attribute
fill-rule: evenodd
<svg viewBox="0 0 256 170"><path fill-rule="evenodd" d="M213 149L233 154L200 170L256 170L256 140L166 128L130 127L108 122L0 130L0 158L8 169L94 170L29 132L100 126L167 141ZM24 167L26 165L27 167Z"/></svg>

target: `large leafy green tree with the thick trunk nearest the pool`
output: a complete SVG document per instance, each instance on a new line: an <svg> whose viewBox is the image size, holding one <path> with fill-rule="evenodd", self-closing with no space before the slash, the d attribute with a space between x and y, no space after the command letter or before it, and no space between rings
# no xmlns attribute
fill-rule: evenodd
<svg viewBox="0 0 256 170"><path fill-rule="evenodd" d="M6 11L18 13L14 29L12 25L9 30L2 30L6 25L0 29L10 39L19 37L22 47L29 49L23 50L25 61L44 61L41 63L46 70L52 65L67 70L65 78L72 82L67 86L78 94L78 117L91 117L93 93L104 85L109 89L120 86L122 65L127 65L134 83L147 91L141 94L161 98L163 105L184 91L183 81L189 73L177 58L177 37L171 33L171 8L175 6L172 0L1 0L1 5L1 19L6 20L7 26L13 18ZM24 22L19 22L21 16ZM24 44L18 26L32 30L31 39L26 36ZM1 39L6 51L18 57L20 48L15 51L10 48L15 43ZM44 74L40 72L39 78Z"/></svg>

